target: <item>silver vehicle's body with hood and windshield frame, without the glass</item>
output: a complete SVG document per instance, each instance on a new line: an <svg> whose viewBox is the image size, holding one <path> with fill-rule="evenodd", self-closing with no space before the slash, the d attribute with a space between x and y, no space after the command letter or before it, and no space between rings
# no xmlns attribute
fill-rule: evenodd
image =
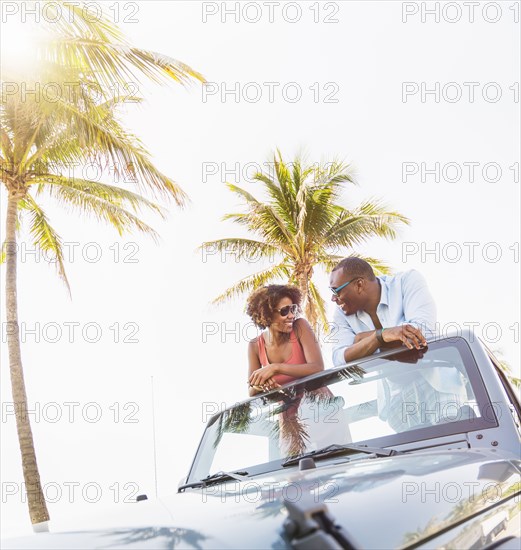
<svg viewBox="0 0 521 550"><path fill-rule="evenodd" d="M192 486L161 501L136 503L133 517L116 528L36 534L6 540L2 548L519 548L519 401L491 353L470 332L429 342L425 357L447 342L463 350L468 372L474 369L469 378L477 417L465 409L468 418L459 423L445 419L362 442L398 452L390 456L339 452L323 459L315 455L311 462L297 457L287 466L282 457L259 470L245 464L248 475L228 472L240 479L197 486L201 472L215 473L209 450L218 449L233 424L222 429L222 419L259 399L269 402L270 394L252 398L210 419L185 480ZM363 378L380 372L370 365L397 353L405 352L385 352L346 368L365 369ZM317 387L339 373L345 378L345 372L332 369L284 389ZM449 377L442 371L441 384ZM251 426L254 434L257 428ZM244 426L234 430L237 438L245 433Z"/></svg>

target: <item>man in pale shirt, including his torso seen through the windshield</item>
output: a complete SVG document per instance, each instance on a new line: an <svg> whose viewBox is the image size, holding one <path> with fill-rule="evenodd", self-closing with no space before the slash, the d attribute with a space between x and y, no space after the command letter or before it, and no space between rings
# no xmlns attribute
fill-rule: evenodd
<svg viewBox="0 0 521 550"><path fill-rule="evenodd" d="M421 349L427 344L425 336L434 334L436 306L417 271L375 277L366 261L349 257L335 267L330 284L338 305L333 348L337 367L400 343ZM433 366L379 380L379 418L396 432L450 420L441 411L459 407L466 394L461 374L449 374Z"/></svg>

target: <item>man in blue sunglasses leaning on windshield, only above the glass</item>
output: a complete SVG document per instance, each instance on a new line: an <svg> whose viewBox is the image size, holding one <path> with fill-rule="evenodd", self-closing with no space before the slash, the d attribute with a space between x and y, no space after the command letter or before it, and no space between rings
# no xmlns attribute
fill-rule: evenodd
<svg viewBox="0 0 521 550"><path fill-rule="evenodd" d="M420 349L425 335L434 333L436 306L417 271L375 277L365 260L351 256L335 267L330 285L338 305L333 321L337 367L399 342Z"/></svg>

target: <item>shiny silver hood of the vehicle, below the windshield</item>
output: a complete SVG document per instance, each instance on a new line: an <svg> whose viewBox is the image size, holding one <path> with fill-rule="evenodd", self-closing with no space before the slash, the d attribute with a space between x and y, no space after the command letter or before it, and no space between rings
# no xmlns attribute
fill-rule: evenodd
<svg viewBox="0 0 521 550"><path fill-rule="evenodd" d="M324 502L355 547L403 547L508 498L521 471L513 455L485 449L358 456L139 502L118 528L42 533L2 548L285 548L285 499Z"/></svg>

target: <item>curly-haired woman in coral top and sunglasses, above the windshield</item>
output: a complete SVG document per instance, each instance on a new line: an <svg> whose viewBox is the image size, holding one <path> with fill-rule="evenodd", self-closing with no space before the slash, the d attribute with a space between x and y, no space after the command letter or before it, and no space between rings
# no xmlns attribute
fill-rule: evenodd
<svg viewBox="0 0 521 550"><path fill-rule="evenodd" d="M246 313L265 329L248 346L250 396L324 370L313 330L298 318L301 301L289 285L265 286L248 298Z"/></svg>

